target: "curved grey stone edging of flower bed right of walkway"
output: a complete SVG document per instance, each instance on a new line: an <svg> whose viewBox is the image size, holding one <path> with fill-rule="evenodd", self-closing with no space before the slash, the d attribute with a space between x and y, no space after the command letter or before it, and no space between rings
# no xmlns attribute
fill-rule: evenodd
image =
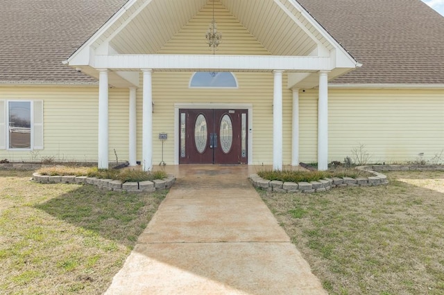
<svg viewBox="0 0 444 295"><path fill-rule="evenodd" d="M369 166L368 168L370 168ZM381 186L388 184L387 177L382 173L366 169L367 167L359 167L358 169L366 170L373 173L371 177L333 177L320 179L319 181L310 182L283 182L277 180L266 180L257 174L250 175L249 179L255 188L268 190L269 192L279 193L320 193L330 190L331 188L343 188L346 186Z"/></svg>

